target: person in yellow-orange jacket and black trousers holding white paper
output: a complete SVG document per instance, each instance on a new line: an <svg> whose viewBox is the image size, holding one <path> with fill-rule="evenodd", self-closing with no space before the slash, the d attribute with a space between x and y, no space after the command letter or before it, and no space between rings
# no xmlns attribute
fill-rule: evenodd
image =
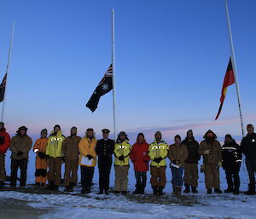
<svg viewBox="0 0 256 219"><path fill-rule="evenodd" d="M87 129L79 142L79 165L81 169L82 193L90 193L96 166L96 138L93 129Z"/></svg>

